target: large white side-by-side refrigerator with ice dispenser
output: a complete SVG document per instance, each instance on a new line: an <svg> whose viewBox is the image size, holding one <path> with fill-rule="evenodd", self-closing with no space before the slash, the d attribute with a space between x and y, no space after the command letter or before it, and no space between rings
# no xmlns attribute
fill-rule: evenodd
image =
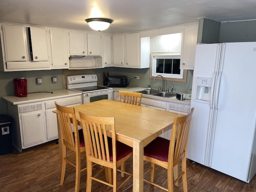
<svg viewBox="0 0 256 192"><path fill-rule="evenodd" d="M256 42L198 44L187 158L250 182L256 174Z"/></svg>

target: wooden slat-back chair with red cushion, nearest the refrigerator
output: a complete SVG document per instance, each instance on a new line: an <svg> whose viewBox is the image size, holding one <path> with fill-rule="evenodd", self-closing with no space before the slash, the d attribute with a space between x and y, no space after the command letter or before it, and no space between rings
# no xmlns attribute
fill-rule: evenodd
<svg viewBox="0 0 256 192"><path fill-rule="evenodd" d="M173 192L173 185L178 186L178 180L182 177L183 191L187 192L186 176L186 154L188 144L188 132L194 108L190 113L174 118L170 141L157 137L150 144L144 147L144 160L151 162L151 169L144 173L144 176L151 172L150 181L145 180L168 192ZM180 172L180 162L182 170ZM156 164L167 169L168 189L154 183Z"/></svg>

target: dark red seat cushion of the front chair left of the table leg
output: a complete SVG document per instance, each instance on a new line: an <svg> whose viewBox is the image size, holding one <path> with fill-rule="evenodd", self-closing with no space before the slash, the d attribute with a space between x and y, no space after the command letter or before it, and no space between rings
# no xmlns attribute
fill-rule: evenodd
<svg viewBox="0 0 256 192"><path fill-rule="evenodd" d="M109 148L109 155L110 161L113 161L113 150L112 150L112 138L108 137L108 148ZM132 148L128 145L116 141L116 160L120 160L130 154L132 152Z"/></svg>

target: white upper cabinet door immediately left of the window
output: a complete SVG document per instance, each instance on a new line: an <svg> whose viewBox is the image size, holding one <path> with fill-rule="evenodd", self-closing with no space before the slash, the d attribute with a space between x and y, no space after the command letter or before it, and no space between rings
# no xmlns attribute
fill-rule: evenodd
<svg viewBox="0 0 256 192"><path fill-rule="evenodd" d="M126 67L140 66L140 34L126 34L125 36L125 65Z"/></svg>

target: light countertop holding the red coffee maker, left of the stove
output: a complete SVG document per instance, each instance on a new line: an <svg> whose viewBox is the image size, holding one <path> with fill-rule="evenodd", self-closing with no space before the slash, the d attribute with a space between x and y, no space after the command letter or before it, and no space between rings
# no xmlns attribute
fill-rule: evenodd
<svg viewBox="0 0 256 192"><path fill-rule="evenodd" d="M16 97L16 96L2 96L4 100L12 103L13 105L25 104L29 102L38 102L42 100L50 100L62 98L63 96L76 96L81 95L81 92L71 91L67 89L54 90L48 92L28 93L27 97Z"/></svg>

